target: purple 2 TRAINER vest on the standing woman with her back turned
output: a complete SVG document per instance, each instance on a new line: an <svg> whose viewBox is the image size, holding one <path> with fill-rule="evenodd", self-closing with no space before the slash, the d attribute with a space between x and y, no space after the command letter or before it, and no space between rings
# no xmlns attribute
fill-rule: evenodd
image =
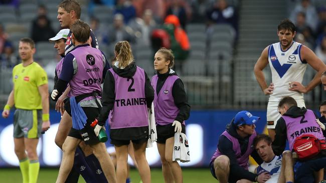
<svg viewBox="0 0 326 183"><path fill-rule="evenodd" d="M115 101L110 111L111 129L148 126L145 73L137 66L132 77L121 77L109 69L115 82Z"/></svg>

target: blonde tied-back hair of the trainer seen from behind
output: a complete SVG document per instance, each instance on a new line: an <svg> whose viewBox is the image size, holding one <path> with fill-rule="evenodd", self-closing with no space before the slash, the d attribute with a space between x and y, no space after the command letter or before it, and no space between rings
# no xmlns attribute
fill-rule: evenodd
<svg viewBox="0 0 326 183"><path fill-rule="evenodd" d="M125 68L133 61L133 55L128 41L122 40L117 42L114 50L117 53L116 59L119 61L119 68Z"/></svg>

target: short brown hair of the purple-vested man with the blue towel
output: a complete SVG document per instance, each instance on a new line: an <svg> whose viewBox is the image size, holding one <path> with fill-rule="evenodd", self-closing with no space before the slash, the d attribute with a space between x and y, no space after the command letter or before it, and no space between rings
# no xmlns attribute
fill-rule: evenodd
<svg viewBox="0 0 326 183"><path fill-rule="evenodd" d="M70 31L74 34L75 39L82 43L87 42L91 34L89 25L81 20L75 21L75 23L71 25Z"/></svg>

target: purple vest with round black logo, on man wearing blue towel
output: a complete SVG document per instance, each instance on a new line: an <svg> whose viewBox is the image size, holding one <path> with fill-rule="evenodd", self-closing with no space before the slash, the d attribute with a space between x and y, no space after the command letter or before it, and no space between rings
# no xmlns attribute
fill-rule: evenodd
<svg viewBox="0 0 326 183"><path fill-rule="evenodd" d="M101 91L102 72L105 58L99 49L81 46L70 52L77 71L69 81L72 96ZM75 66L74 66L75 67ZM84 100L89 99L85 98Z"/></svg>

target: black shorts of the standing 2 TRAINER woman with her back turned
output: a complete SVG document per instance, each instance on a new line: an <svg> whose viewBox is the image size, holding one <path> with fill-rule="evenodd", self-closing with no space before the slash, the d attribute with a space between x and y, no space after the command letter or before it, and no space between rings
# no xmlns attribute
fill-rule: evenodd
<svg viewBox="0 0 326 183"><path fill-rule="evenodd" d="M127 145L130 140L133 143L147 141L148 126L110 129L110 139L114 145Z"/></svg>

